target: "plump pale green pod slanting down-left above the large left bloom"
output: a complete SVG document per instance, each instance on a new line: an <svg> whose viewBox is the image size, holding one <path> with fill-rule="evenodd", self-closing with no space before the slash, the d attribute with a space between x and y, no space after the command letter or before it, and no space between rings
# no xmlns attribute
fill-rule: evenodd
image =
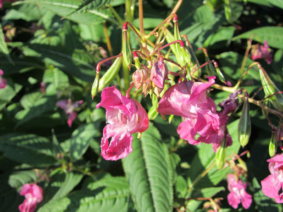
<svg viewBox="0 0 283 212"><path fill-rule="evenodd" d="M116 74L118 73L122 64L122 57L117 57L116 60L113 62L111 67L107 70L107 72L101 77L99 80L99 91L102 91L104 87L106 87L109 82L111 82Z"/></svg>

